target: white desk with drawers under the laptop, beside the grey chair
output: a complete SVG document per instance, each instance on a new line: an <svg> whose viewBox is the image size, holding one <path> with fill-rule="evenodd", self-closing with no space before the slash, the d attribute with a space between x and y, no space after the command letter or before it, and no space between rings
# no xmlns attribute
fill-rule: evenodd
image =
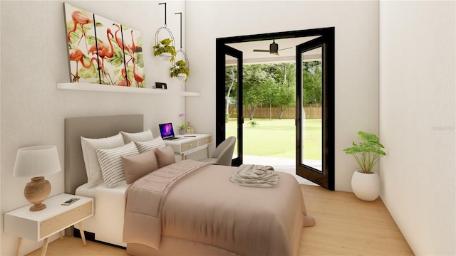
<svg viewBox="0 0 456 256"><path fill-rule="evenodd" d="M212 134L185 134L176 135L176 137L185 139L165 139L163 142L165 142L166 145L171 146L175 154L180 154L182 160L185 159L187 154L192 154L193 152L202 149L206 149L207 157L209 157L209 144L212 143Z"/></svg>

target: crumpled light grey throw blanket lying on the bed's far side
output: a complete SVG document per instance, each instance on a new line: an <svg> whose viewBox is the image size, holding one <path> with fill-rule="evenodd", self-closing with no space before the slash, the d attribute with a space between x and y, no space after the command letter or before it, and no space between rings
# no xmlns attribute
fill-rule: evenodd
<svg viewBox="0 0 456 256"><path fill-rule="evenodd" d="M240 186L269 187L279 183L279 175L274 174L271 166L242 164L229 178Z"/></svg>

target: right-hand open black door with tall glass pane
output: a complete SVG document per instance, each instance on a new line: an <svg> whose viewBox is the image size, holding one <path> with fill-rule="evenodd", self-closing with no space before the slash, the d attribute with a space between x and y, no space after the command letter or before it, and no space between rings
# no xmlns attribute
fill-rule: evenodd
<svg viewBox="0 0 456 256"><path fill-rule="evenodd" d="M296 174L334 190L333 38L296 46Z"/></svg>

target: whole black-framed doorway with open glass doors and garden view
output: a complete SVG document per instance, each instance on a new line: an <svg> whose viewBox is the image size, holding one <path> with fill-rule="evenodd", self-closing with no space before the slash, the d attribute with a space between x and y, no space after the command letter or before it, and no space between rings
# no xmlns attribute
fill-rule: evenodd
<svg viewBox="0 0 456 256"><path fill-rule="evenodd" d="M232 166L286 165L334 189L334 31L216 39L215 143L237 138Z"/></svg>

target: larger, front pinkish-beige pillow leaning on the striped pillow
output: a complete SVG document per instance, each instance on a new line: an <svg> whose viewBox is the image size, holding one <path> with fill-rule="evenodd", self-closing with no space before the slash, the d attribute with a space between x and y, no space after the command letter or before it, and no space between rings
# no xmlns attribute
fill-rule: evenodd
<svg viewBox="0 0 456 256"><path fill-rule="evenodd" d="M158 169L157 159L153 150L134 156L122 156L121 158L127 184L131 184L138 178Z"/></svg>

